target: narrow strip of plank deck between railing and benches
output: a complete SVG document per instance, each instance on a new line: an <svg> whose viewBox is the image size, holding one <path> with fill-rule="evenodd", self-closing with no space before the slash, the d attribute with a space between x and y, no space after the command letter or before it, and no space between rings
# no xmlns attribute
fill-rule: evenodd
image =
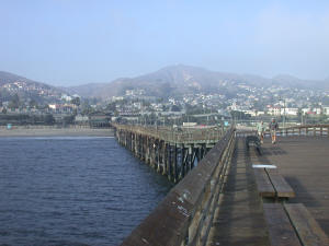
<svg viewBox="0 0 329 246"><path fill-rule="evenodd" d="M209 246L270 245L249 152L253 152L253 148L248 151L245 139L237 139L209 233Z"/></svg>

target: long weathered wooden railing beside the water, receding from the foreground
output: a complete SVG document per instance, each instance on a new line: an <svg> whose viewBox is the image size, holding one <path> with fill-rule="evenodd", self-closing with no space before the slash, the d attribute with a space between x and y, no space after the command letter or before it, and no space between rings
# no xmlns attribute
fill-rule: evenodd
<svg viewBox="0 0 329 246"><path fill-rule="evenodd" d="M205 245L235 139L228 130L122 245Z"/></svg>

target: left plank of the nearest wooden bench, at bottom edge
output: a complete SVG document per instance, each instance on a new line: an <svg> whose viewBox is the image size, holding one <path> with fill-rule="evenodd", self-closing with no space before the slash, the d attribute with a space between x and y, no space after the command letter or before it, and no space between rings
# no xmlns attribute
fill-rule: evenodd
<svg viewBox="0 0 329 246"><path fill-rule="evenodd" d="M281 203L263 203L263 210L272 246L300 246Z"/></svg>

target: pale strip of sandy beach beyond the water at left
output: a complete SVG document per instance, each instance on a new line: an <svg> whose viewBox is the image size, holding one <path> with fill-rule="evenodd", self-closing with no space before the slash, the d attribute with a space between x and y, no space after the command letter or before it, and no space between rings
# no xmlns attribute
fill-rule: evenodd
<svg viewBox="0 0 329 246"><path fill-rule="evenodd" d="M113 137L113 129L94 129L87 127L55 128L55 127L0 127L1 137Z"/></svg>

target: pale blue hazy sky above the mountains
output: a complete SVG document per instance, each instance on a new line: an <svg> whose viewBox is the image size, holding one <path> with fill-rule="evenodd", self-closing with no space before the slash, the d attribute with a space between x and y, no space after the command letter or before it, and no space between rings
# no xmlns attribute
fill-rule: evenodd
<svg viewBox="0 0 329 246"><path fill-rule="evenodd" d="M329 1L0 0L0 71L55 85L184 63L329 77Z"/></svg>

